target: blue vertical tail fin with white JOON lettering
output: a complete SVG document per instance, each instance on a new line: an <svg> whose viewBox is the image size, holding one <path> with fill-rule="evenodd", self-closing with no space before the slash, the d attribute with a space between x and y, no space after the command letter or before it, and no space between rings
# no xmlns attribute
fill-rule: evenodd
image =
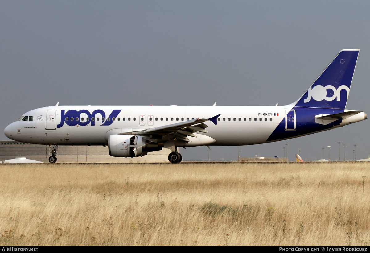
<svg viewBox="0 0 370 253"><path fill-rule="evenodd" d="M305 94L293 104L296 107L345 109L359 51L341 50Z"/></svg>

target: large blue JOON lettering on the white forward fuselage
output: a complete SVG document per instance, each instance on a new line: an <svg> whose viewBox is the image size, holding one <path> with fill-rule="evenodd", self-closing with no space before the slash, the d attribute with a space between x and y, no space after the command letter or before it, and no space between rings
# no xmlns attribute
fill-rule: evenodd
<svg viewBox="0 0 370 253"><path fill-rule="evenodd" d="M95 122L98 122L97 118L95 118L96 114L100 114L101 119L99 119L99 121L101 120L101 123L104 122L100 126L109 126L113 123L113 118L117 117L120 112L121 110L113 110L111 114L109 114L109 116L105 119L105 113L103 110L100 110L100 109L97 109L93 111L92 113L90 113L90 111L88 110L79 110L79 111L61 110L61 114L60 114L61 119L60 119L60 123L57 125L57 128L62 127L64 123L67 124L68 126L76 126L76 125L87 126L90 123L91 123L91 126L95 126ZM82 117L84 118L83 121L81 120L81 114L83 114L83 117ZM92 120L92 118L94 119Z"/></svg>

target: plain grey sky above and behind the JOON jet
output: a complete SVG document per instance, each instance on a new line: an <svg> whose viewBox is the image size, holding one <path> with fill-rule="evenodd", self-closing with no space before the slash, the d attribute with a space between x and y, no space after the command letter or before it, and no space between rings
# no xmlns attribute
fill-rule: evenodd
<svg viewBox="0 0 370 253"><path fill-rule="evenodd" d="M360 49L347 109L370 113L368 1L0 1L0 129L60 104L270 105L298 99L342 49ZM370 114L369 114L370 115ZM211 115L213 116L213 115ZM347 144L368 122L288 140L289 159ZM1 131L1 140L8 140ZM284 142L241 147L283 156ZM181 150L207 159L206 147ZM344 147L341 148L342 160ZM211 147L236 160L238 147ZM327 148L325 149L327 158Z"/></svg>

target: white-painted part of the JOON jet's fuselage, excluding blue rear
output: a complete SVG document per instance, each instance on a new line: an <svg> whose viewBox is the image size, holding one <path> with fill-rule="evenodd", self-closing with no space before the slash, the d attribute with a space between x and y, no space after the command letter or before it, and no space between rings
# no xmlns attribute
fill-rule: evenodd
<svg viewBox="0 0 370 253"><path fill-rule="evenodd" d="M283 106L53 106L28 111L23 116L33 116L33 121L16 121L7 127L5 133L13 140L34 144L107 145L106 133L112 129L131 132L221 114L217 125L206 122L208 133L201 133L216 140L211 145L250 145L265 143L285 118L285 111L290 109L291 107ZM48 111L53 110L56 112L55 119L47 115ZM61 115L62 110L66 114L64 117ZM71 110L87 110L90 113L102 110L105 119L102 122L102 114L96 113L92 125L90 115L82 112L78 113L79 119L75 122L77 124L70 126L67 122L72 122L68 115ZM114 120L110 119L109 125L104 125L113 110L120 112ZM49 126L46 129L48 117L52 121L49 124L54 124L55 127ZM75 118L74 116L74 121ZM90 123L83 126L87 118ZM64 124L60 126L63 120Z"/></svg>

